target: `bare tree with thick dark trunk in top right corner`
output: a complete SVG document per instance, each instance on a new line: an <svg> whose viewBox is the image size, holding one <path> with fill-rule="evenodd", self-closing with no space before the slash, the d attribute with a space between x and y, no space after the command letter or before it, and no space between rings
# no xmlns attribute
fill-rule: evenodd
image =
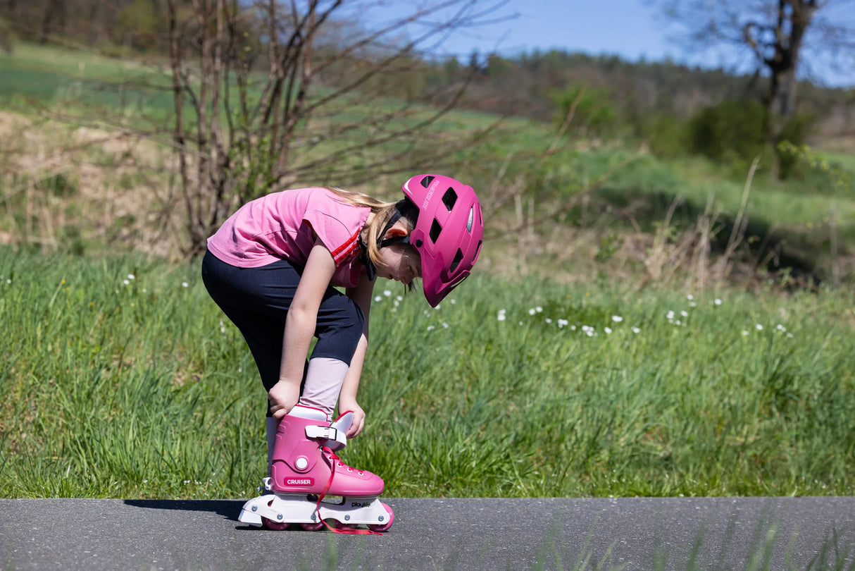
<svg viewBox="0 0 855 571"><path fill-rule="evenodd" d="M803 52L852 66L855 6L851 0L648 0L681 27L688 47L743 48L769 74L764 104L771 116L796 110ZM739 57L739 56L735 56Z"/></svg>

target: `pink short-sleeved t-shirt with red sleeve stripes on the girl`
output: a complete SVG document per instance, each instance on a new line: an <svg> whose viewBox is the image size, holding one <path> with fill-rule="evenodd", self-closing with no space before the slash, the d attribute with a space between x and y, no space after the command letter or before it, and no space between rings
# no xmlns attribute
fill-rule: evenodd
<svg viewBox="0 0 855 571"><path fill-rule="evenodd" d="M208 239L218 259L239 268L258 268L280 259L305 265L314 245L312 231L333 254L332 284L353 287L364 270L359 233L370 209L349 205L326 188L271 193L241 206Z"/></svg>

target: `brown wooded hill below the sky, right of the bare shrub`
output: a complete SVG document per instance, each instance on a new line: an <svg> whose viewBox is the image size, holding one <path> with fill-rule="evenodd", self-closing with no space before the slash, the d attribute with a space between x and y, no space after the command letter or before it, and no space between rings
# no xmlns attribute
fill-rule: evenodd
<svg viewBox="0 0 855 571"><path fill-rule="evenodd" d="M428 64L431 91L462 80L466 69L455 62ZM566 51L534 51L518 57L488 57L460 102L464 108L555 118L553 97L569 86L599 88L608 93L624 118L660 113L692 115L724 100L759 99L768 79L730 74L722 69L692 68L675 62L628 62L616 56L591 56ZM823 134L855 134L855 90L799 83L799 112L817 118Z"/></svg>

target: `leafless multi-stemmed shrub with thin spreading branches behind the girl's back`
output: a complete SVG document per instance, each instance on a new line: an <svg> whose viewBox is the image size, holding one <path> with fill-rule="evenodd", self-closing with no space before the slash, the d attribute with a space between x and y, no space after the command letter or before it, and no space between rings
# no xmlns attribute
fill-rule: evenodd
<svg viewBox="0 0 855 571"><path fill-rule="evenodd" d="M377 90L411 76L420 46L492 17L500 4L445 0L381 27L345 21L354 0L167 4L189 253L236 205L275 187L357 184L436 164L483 133L439 128L465 81L439 94L439 106L384 100Z"/></svg>

